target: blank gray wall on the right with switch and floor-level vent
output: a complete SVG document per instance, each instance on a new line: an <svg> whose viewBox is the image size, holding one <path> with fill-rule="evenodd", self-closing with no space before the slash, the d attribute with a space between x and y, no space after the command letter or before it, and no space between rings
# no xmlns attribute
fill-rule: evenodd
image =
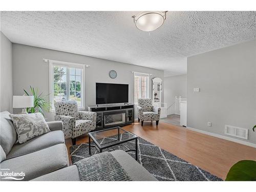
<svg viewBox="0 0 256 192"><path fill-rule="evenodd" d="M248 140L240 140L256 143L251 129L256 123L255 44L252 40L188 57L188 127L219 135L224 135L225 124L244 127L249 129Z"/></svg>

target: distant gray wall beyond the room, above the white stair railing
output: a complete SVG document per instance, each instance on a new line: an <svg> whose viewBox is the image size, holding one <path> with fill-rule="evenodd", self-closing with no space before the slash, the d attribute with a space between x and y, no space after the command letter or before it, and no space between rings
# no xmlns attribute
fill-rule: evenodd
<svg viewBox="0 0 256 192"><path fill-rule="evenodd" d="M167 107L175 102L175 96L187 98L187 75L164 77L164 102ZM176 113L176 105L172 105L169 114Z"/></svg>

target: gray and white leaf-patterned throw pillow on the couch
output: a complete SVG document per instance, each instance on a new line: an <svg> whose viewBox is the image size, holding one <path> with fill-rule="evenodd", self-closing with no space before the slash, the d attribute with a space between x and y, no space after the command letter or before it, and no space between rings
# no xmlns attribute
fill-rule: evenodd
<svg viewBox="0 0 256 192"><path fill-rule="evenodd" d="M29 139L50 132L46 120L40 113L10 114L18 134L18 142L25 143Z"/></svg>

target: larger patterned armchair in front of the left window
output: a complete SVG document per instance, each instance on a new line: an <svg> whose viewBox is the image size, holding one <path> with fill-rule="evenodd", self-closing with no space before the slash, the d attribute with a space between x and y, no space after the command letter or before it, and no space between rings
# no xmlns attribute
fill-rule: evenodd
<svg viewBox="0 0 256 192"><path fill-rule="evenodd" d="M55 120L62 121L62 131L66 138L72 139L76 144L76 137L86 134L96 128L96 113L78 111L76 101L54 102Z"/></svg>

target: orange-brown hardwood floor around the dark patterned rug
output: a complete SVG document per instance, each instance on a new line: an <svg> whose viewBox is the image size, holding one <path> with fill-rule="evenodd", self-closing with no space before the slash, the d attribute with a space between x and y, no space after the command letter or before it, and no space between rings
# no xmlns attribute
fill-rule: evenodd
<svg viewBox="0 0 256 192"><path fill-rule="evenodd" d="M222 179L226 178L234 163L243 159L256 160L256 148L190 131L161 120L158 126L156 122L144 122L142 127L135 122L123 128ZM83 142L88 142L87 135L79 137L76 144ZM69 149L71 139L66 140L66 145Z"/></svg>

